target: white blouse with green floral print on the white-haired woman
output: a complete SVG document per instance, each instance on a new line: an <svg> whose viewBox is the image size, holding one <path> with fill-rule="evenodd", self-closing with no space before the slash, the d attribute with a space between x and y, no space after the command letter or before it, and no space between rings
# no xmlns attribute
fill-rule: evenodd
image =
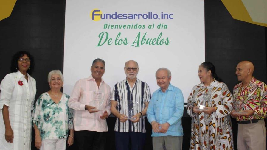
<svg viewBox="0 0 267 150"><path fill-rule="evenodd" d="M67 138L73 129L73 110L68 106L69 96L65 93L56 104L47 92L36 101L32 123L36 124L42 140Z"/></svg>

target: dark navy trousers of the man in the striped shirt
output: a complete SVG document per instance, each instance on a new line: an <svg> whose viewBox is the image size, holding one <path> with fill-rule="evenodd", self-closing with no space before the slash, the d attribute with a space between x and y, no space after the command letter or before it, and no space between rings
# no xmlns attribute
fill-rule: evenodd
<svg viewBox="0 0 267 150"><path fill-rule="evenodd" d="M142 132L116 132L116 150L143 150L145 133Z"/></svg>

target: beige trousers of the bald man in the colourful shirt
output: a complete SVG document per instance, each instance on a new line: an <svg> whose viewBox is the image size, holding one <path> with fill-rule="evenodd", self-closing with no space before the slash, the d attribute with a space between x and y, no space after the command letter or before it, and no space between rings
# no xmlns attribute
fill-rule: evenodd
<svg viewBox="0 0 267 150"><path fill-rule="evenodd" d="M266 128L264 119L252 124L238 124L238 150L265 150Z"/></svg>

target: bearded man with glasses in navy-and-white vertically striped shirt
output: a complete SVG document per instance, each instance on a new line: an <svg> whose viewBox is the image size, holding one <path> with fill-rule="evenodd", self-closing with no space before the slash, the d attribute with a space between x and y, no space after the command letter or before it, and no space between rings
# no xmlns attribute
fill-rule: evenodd
<svg viewBox="0 0 267 150"><path fill-rule="evenodd" d="M138 63L125 63L126 79L118 82L111 96L111 112L117 117L115 146L117 150L142 150L145 143L145 117L151 98L148 84L136 78ZM131 145L130 145L131 143Z"/></svg>

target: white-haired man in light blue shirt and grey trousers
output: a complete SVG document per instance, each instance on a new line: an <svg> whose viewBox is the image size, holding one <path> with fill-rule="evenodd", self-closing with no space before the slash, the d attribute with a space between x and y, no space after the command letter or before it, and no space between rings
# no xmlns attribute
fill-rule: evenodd
<svg viewBox="0 0 267 150"><path fill-rule="evenodd" d="M184 97L182 91L171 85L171 72L167 68L156 71L156 90L147 110L152 125L153 150L182 149Z"/></svg>

